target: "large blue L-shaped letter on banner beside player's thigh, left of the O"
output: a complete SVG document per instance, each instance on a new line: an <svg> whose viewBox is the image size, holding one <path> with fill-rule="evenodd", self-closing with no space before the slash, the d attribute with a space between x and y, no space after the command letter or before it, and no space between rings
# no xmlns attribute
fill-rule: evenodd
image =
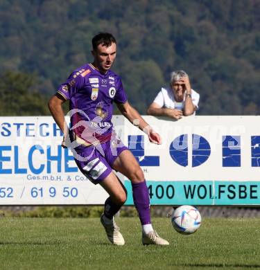
<svg viewBox="0 0 260 270"><path fill-rule="evenodd" d="M159 156L144 155L144 135L129 135L128 148L140 166L159 166Z"/></svg>

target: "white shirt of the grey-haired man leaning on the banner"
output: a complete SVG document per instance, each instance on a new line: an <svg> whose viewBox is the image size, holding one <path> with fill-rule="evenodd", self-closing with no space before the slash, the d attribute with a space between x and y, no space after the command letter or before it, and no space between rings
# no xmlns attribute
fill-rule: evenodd
<svg viewBox="0 0 260 270"><path fill-rule="evenodd" d="M198 109L198 101L200 100L200 94L191 89L191 100L193 102L193 105ZM169 109L180 109L182 110L184 108L184 101L185 101L185 94L184 94L184 100L182 102L175 101L174 95L173 95L173 89L171 88L164 88L162 87L161 91L157 94L155 100L153 102L157 103L161 108L169 108ZM194 111L195 115L196 111Z"/></svg>

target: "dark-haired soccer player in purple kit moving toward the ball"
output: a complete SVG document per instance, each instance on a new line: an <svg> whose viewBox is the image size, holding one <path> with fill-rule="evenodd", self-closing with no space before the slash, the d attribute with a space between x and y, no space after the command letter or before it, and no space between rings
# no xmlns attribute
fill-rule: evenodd
<svg viewBox="0 0 260 270"><path fill-rule="evenodd" d="M151 143L160 144L161 138L129 104L121 78L110 70L116 58L116 39L110 33L99 33L93 37L92 46L94 62L73 71L49 100L51 114L64 133L62 145L73 151L80 171L110 195L105 201L101 224L112 244L125 244L114 222L114 215L127 197L123 184L113 172L116 170L132 183L143 244L166 245L168 242L159 237L150 221L150 200L144 173L112 128L112 103L116 102L123 116L143 130ZM71 128L64 125L62 104L67 100Z"/></svg>

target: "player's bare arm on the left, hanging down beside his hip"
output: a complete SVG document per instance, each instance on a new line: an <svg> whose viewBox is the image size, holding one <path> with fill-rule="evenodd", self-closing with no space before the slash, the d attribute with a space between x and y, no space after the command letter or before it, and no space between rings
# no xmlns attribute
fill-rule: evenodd
<svg viewBox="0 0 260 270"><path fill-rule="evenodd" d="M53 116L55 122L57 123L58 127L62 130L64 137L62 141L62 147L66 147L65 141L66 141L66 135L68 132L67 123L65 122L64 117L64 111L62 109L62 104L66 102L64 98L62 98L61 95L56 93L54 96L51 97L51 99L48 102L49 110L51 111L51 115Z"/></svg>

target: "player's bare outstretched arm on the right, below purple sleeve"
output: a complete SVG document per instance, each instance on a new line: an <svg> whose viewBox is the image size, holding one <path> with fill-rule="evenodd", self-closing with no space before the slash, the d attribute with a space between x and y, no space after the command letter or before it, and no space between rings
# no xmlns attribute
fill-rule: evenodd
<svg viewBox="0 0 260 270"><path fill-rule="evenodd" d="M148 135L149 141L151 143L155 143L155 144L162 143L162 140L159 134L153 131L152 127L150 127L150 125L146 123L144 118L140 116L139 112L135 108L133 108L128 103L128 101L123 104L117 103L116 105L121 111L121 114L123 114L123 116L125 116L125 118L127 118L130 121L130 123L132 123L133 125L136 125L137 127L139 127L139 129L141 129Z"/></svg>

